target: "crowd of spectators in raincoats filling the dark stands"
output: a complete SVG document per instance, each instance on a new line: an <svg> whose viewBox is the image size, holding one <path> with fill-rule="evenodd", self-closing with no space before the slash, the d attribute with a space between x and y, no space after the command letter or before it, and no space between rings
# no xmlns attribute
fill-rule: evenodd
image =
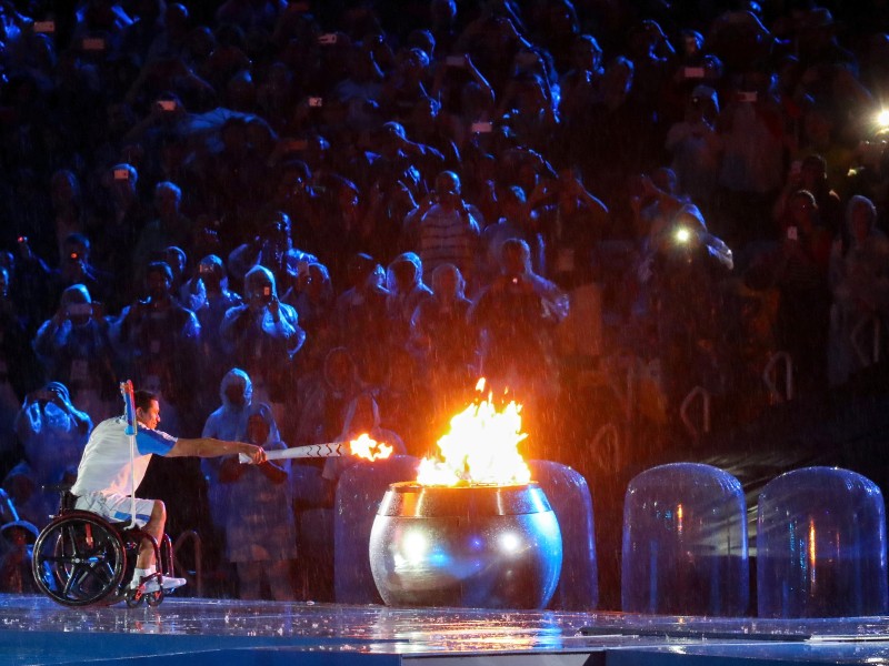
<svg viewBox="0 0 889 666"><path fill-rule="evenodd" d="M122 379L182 436L426 455L483 375L571 463L590 294L583 361L665 432L696 386L756 415L778 351L842 385L889 314L888 32L876 0L0 0L3 487L44 524ZM280 564L314 472L204 466L242 595L317 594Z"/></svg>

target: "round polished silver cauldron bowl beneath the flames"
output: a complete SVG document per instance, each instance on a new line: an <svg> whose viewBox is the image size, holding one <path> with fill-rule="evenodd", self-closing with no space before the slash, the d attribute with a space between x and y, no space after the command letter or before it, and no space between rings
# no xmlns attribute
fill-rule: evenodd
<svg viewBox="0 0 889 666"><path fill-rule="evenodd" d="M370 568L390 606L543 608L562 566L556 514L539 485L389 486L370 533Z"/></svg>

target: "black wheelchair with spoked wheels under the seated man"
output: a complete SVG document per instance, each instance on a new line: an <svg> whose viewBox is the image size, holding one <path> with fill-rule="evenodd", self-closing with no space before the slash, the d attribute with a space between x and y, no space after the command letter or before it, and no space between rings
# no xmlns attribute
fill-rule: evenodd
<svg viewBox="0 0 889 666"><path fill-rule="evenodd" d="M158 606L163 588L147 592L146 583L172 575L173 557L170 537L161 543L129 523L112 523L102 516L74 508L77 497L60 490L58 515L37 537L31 566L40 592L62 606L111 605L124 601L130 608L146 602ZM142 541L154 548L158 572L130 588L136 557Z"/></svg>

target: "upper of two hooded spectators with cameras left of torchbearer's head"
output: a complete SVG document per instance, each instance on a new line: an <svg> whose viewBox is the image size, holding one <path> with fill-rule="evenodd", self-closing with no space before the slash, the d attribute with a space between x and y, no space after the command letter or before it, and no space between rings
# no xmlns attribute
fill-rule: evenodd
<svg viewBox="0 0 889 666"><path fill-rule="evenodd" d="M59 310L34 339L47 376L63 382L78 410L97 421L111 415L114 400L114 353L101 303L83 284L62 292Z"/></svg>

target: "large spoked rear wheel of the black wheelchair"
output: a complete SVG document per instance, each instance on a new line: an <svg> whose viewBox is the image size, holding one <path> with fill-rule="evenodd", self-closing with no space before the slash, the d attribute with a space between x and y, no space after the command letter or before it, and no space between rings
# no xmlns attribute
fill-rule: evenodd
<svg viewBox="0 0 889 666"><path fill-rule="evenodd" d="M32 567L40 591L63 606L100 604L120 588L127 553L120 534L104 519L71 512L37 538Z"/></svg>

